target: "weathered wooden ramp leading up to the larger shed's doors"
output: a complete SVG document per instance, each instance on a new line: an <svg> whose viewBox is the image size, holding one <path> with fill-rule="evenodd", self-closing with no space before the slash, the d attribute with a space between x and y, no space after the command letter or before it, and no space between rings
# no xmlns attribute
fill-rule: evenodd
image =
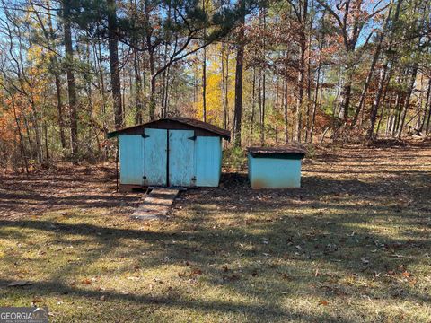
<svg viewBox="0 0 431 323"><path fill-rule="evenodd" d="M133 220L166 219L166 215L179 192L178 188L154 188L146 196L144 203L137 206L130 218Z"/></svg>

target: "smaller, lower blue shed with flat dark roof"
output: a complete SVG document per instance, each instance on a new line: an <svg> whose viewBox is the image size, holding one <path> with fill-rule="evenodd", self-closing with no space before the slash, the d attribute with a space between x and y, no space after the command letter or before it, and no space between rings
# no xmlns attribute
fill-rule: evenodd
<svg viewBox="0 0 431 323"><path fill-rule="evenodd" d="M300 188L301 160L306 151L293 144L282 147L249 147L251 188Z"/></svg>

